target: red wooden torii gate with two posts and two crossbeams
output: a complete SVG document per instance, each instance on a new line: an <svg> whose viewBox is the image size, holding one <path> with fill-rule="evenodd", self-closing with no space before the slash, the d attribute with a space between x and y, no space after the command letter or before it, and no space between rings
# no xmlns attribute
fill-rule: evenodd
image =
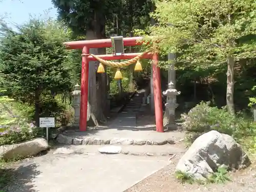
<svg viewBox="0 0 256 192"><path fill-rule="evenodd" d="M124 46L142 45L142 37L125 37L123 38ZM88 55L90 48L112 47L111 39L79 40L64 43L67 49L82 49L82 70L81 70L81 100L80 100L80 131L87 130L87 103L88 103L88 85L89 85L89 61L96 59ZM97 55L104 60L132 59L141 53L124 53L122 55ZM154 81L154 100L155 100L155 117L156 131L163 131L163 111L162 111L162 94L160 68L158 65L157 53L145 53L142 58L153 60L153 81Z"/></svg>

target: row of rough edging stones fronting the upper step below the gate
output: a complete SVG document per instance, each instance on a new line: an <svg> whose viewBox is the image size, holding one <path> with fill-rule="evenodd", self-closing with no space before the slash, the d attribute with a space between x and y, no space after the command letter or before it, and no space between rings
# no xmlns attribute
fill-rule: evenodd
<svg viewBox="0 0 256 192"><path fill-rule="evenodd" d="M77 138L70 137L62 134L52 135L53 138L60 144L73 144L73 145L107 145L107 144L120 144L120 145L165 145L165 144L175 144L173 139L165 139L165 140L133 140L126 138L113 138L113 139L99 139L94 137L86 137L86 138Z"/></svg>

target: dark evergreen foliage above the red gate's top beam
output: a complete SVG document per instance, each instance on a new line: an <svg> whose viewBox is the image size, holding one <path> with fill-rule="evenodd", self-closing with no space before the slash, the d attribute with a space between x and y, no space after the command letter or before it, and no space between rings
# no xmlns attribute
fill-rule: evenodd
<svg viewBox="0 0 256 192"><path fill-rule="evenodd" d="M105 29L106 24L106 36L130 36L133 29L145 29L150 22L148 13L152 6L150 0L52 0L52 3L58 9L59 19L65 20L75 35L84 34L88 29L97 30L96 25Z"/></svg>

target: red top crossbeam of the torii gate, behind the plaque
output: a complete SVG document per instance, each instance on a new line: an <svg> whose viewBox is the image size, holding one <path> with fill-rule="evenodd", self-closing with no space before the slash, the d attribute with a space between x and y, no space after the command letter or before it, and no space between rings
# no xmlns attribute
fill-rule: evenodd
<svg viewBox="0 0 256 192"><path fill-rule="evenodd" d="M139 46L142 45L142 37L124 37L124 46ZM67 49L82 49L83 47L90 48L106 48L112 47L111 39L95 39L95 40L76 40L64 43Z"/></svg>

